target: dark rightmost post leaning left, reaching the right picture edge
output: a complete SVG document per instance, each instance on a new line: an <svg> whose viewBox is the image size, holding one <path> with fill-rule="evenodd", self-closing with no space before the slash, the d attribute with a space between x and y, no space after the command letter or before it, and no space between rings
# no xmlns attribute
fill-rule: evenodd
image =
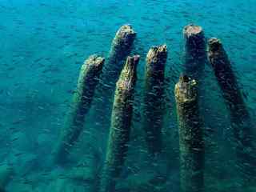
<svg viewBox="0 0 256 192"><path fill-rule="evenodd" d="M230 110L230 122L236 142L238 166L243 177L256 178L256 155L252 153L255 150L254 136L251 130L253 125L249 111L242 98L241 90L222 42L218 38L210 38L208 46L210 64L222 90L222 96Z"/></svg>

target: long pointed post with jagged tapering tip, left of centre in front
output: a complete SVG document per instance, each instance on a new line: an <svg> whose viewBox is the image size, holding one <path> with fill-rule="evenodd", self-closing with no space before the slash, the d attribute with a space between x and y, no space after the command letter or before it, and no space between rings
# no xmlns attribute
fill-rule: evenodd
<svg viewBox="0 0 256 192"><path fill-rule="evenodd" d="M102 171L101 192L114 192L116 179L125 162L133 113L136 67L139 56L128 57L117 82L111 116L106 162Z"/></svg>

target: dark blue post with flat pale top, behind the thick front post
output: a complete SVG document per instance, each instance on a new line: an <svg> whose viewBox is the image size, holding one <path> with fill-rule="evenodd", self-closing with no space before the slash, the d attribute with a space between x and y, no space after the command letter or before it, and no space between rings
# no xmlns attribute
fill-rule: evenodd
<svg viewBox="0 0 256 192"><path fill-rule="evenodd" d="M201 26L190 24L183 29L185 38L185 74L200 81L207 61L206 38Z"/></svg>

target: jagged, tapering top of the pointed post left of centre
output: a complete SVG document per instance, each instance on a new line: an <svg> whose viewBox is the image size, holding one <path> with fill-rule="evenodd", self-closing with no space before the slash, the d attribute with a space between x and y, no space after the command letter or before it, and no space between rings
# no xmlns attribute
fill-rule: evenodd
<svg viewBox="0 0 256 192"><path fill-rule="evenodd" d="M139 55L127 57L126 65L123 67L119 80L117 82L117 87L119 90L129 91L134 88L134 83L137 79L136 68L138 66L139 58Z"/></svg>

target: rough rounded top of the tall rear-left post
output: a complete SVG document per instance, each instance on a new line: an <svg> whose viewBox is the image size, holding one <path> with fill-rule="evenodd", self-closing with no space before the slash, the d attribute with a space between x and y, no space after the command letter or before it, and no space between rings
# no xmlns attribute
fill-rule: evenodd
<svg viewBox="0 0 256 192"><path fill-rule="evenodd" d="M130 25L123 25L120 27L118 32L115 34L113 44L123 46L131 46L134 42L134 38L136 37L136 32L133 30Z"/></svg>

